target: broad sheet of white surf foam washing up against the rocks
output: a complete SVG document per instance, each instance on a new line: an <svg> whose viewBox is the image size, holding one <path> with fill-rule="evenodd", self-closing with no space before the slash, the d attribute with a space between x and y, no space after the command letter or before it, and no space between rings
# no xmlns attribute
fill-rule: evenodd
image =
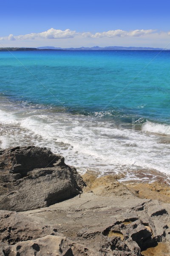
<svg viewBox="0 0 170 256"><path fill-rule="evenodd" d="M25 115L23 112L3 113L3 117L6 125L1 130L2 148L30 144L46 146L62 154L66 163L74 165L81 173L87 169L99 170L102 174L130 173L145 168L148 172L155 169L170 174L170 145L160 143L154 134L122 129L113 122L99 122L89 116L48 110L40 113L26 109ZM12 122L8 122L8 118Z"/></svg>

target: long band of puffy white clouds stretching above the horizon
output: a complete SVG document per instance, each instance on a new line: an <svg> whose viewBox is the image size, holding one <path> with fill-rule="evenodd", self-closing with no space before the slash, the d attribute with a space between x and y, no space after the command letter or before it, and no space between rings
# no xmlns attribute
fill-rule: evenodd
<svg viewBox="0 0 170 256"><path fill-rule="evenodd" d="M109 30L106 32L97 32L95 34L91 34L90 32L78 33L76 31L72 31L70 29L60 30L60 29L48 29L47 31L40 32L40 33L30 33L26 35L17 35L14 36L10 34L8 37L0 37L0 40L8 40L8 41L15 41L15 40L34 40L37 38L43 39L59 39L59 38L74 38L76 35L85 37L85 38L115 38L115 37L141 37L148 34L155 33L156 30L153 29L136 29L132 31L125 31L121 29L116 30ZM170 35L170 32L168 32Z"/></svg>

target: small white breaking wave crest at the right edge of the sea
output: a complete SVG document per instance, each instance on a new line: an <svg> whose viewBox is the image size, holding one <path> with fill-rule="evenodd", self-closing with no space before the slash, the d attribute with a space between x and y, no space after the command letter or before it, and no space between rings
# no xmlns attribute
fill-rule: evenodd
<svg viewBox="0 0 170 256"><path fill-rule="evenodd" d="M142 131L156 133L156 134L170 135L170 125L147 121L142 126Z"/></svg>

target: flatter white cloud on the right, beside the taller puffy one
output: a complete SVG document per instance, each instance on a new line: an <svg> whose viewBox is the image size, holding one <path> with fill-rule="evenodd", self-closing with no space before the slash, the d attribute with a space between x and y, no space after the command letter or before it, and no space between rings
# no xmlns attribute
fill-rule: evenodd
<svg viewBox="0 0 170 256"><path fill-rule="evenodd" d="M153 29L136 29L132 31L125 31L121 29L116 30L109 30L107 32L97 32L96 34L91 34L89 32L82 33L82 36L88 37L88 38L113 38L113 37L125 37L125 36L142 36L142 35L148 35L156 32L156 30Z"/></svg>

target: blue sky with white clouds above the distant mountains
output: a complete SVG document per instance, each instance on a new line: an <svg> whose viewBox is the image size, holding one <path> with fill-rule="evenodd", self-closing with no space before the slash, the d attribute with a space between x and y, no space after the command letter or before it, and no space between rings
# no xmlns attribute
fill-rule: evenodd
<svg viewBox="0 0 170 256"><path fill-rule="evenodd" d="M3 0L0 47L170 49L169 12L168 0Z"/></svg>

